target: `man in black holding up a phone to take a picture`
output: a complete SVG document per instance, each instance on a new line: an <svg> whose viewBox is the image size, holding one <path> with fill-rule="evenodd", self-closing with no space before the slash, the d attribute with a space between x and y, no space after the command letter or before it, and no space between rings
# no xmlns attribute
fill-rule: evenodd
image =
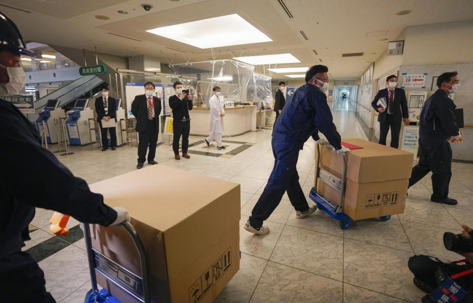
<svg viewBox="0 0 473 303"><path fill-rule="evenodd" d="M174 150L174 159L179 160L179 139L182 135L182 156L189 159L191 156L187 154L189 147L189 133L191 131L191 119L189 111L192 110L192 95L183 92L182 83L179 81L174 83L174 91L176 94L169 97L169 107L172 109L172 128L174 138L172 141L172 149Z"/></svg>

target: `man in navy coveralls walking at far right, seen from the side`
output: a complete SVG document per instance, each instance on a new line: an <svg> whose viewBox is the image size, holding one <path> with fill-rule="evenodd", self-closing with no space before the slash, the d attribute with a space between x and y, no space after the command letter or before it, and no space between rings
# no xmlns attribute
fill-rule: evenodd
<svg viewBox="0 0 473 303"><path fill-rule="evenodd" d="M412 168L409 187L432 172L430 201L456 205L448 198L448 185L452 177L452 149L448 139L461 137L454 114L455 104L448 97L460 89L457 72L443 73L437 78L439 88L427 101L420 113L419 163Z"/></svg>

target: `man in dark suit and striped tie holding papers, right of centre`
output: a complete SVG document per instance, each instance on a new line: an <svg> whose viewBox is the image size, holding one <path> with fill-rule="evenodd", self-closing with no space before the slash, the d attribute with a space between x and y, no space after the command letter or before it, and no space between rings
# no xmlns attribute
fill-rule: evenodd
<svg viewBox="0 0 473 303"><path fill-rule="evenodd" d="M391 147L395 149L399 147L401 120L409 125L405 91L396 88L397 85L398 78L395 75L387 77L387 88L378 91L371 103L374 110L379 113L379 144L386 145L386 137L389 127L391 127ZM378 104L378 101L381 101L380 104Z"/></svg>

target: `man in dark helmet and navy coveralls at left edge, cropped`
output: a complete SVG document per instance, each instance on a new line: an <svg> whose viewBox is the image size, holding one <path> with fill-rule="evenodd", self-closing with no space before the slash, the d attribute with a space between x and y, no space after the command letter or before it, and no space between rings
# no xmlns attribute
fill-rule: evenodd
<svg viewBox="0 0 473 303"><path fill-rule="evenodd" d="M25 87L20 55L34 57L15 24L0 12L0 96ZM55 303L44 273L21 251L30 240L34 207L56 210L81 222L117 225L130 220L122 207L111 208L101 194L41 147L36 127L11 102L0 99L0 302Z"/></svg>

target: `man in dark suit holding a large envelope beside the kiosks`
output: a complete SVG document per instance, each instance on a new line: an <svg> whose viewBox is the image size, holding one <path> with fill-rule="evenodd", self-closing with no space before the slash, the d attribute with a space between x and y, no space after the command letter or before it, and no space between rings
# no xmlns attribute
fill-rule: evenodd
<svg viewBox="0 0 473 303"><path fill-rule="evenodd" d="M102 127L102 119L109 121L114 119L117 122L117 101L108 96L108 86L102 87L102 96L95 99L95 111L97 112L97 121L99 121L100 132L102 136L102 152L108 149L107 130L110 132L110 146L112 151L117 146L116 127Z"/></svg>

